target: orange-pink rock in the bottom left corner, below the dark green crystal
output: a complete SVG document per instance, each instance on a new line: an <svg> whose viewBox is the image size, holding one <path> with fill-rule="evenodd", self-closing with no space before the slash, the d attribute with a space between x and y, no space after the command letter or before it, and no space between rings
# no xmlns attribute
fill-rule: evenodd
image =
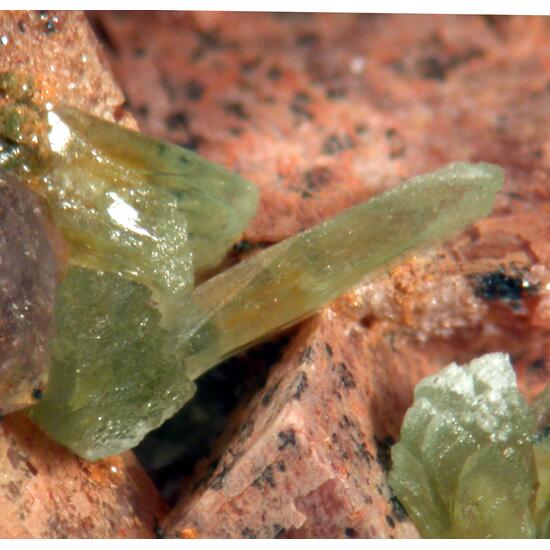
<svg viewBox="0 0 550 550"><path fill-rule="evenodd" d="M164 504L131 453L86 463L23 414L0 423L2 538L154 536Z"/></svg>

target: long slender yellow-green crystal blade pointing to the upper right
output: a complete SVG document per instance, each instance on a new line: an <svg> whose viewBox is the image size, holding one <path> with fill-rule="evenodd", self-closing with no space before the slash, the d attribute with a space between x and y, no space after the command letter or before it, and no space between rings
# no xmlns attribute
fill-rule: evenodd
<svg viewBox="0 0 550 550"><path fill-rule="evenodd" d="M196 378L369 273L487 215L502 182L497 166L451 164L260 252L173 305L172 346Z"/></svg>

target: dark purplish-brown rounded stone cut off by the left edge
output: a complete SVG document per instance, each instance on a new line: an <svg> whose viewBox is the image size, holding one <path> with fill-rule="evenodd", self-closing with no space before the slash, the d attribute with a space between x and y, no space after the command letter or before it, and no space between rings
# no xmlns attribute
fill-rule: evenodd
<svg viewBox="0 0 550 550"><path fill-rule="evenodd" d="M0 171L0 414L34 403L45 378L56 270L38 199Z"/></svg>

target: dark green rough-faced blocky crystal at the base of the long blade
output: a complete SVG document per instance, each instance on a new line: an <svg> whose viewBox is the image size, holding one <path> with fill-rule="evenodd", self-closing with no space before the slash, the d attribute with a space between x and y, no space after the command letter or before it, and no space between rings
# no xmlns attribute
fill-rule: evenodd
<svg viewBox="0 0 550 550"><path fill-rule="evenodd" d="M80 267L60 284L47 388L29 411L88 460L134 447L195 392L145 286Z"/></svg>

